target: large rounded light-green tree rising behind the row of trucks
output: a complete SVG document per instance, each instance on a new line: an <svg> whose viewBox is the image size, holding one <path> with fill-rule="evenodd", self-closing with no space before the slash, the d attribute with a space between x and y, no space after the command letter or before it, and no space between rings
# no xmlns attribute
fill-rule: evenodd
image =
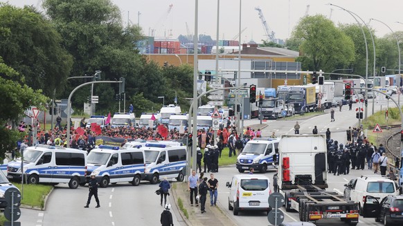
<svg viewBox="0 0 403 226"><path fill-rule="evenodd" d="M303 70L330 71L334 66L347 66L354 59L354 45L349 37L323 15L306 16L292 32L301 41Z"/></svg>

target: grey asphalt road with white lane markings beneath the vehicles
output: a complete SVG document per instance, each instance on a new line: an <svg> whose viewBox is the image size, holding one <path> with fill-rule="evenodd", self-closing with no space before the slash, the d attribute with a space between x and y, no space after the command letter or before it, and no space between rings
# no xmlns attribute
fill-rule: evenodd
<svg viewBox="0 0 403 226"><path fill-rule="evenodd" d="M397 96L394 95L397 98ZM368 104L368 115L370 115L372 101ZM330 122L329 109L324 115L312 117L307 120L300 120L300 133L312 133L316 125L319 133L325 133L327 128L332 132L332 139L346 143L346 129L348 126L357 125L358 120L355 117L355 108L358 104L353 104L352 111L348 111L348 106L343 106L342 111L335 110L335 122ZM375 106L375 111L379 111L380 106ZM267 120L262 122L267 127L262 130L262 136L268 137L274 131L279 137L281 134L294 133L294 124L296 120ZM259 120L245 120L244 126L258 124ZM220 181L219 205L226 214L229 214L238 225L267 225L267 216L262 213L240 213L240 216L233 216L228 210L228 189L225 187L226 181L231 181L233 174L238 173L235 167L220 168L217 173L217 179ZM269 178L273 177L274 172L266 173ZM368 170L352 171L347 176L330 175L328 183L330 189L343 192L343 185L351 178L361 174L370 174ZM159 217L163 207L159 205L159 196L154 194L158 185L150 185L147 182L141 183L138 187L133 187L128 183L112 185L106 189L99 189L100 198L99 209L95 208L95 200L92 200L90 208L84 209L88 196L87 187L78 189L69 189L66 185L57 185L48 199L46 210L37 211L33 209L21 209L21 218L19 221L23 225L159 225ZM174 203L172 196L170 203ZM174 225L184 225L180 219L177 207L173 207ZM285 212L285 211L284 211ZM298 213L286 213L286 220L298 220ZM332 225L341 225L340 222L331 223ZM360 218L359 225L379 225L373 219Z"/></svg>

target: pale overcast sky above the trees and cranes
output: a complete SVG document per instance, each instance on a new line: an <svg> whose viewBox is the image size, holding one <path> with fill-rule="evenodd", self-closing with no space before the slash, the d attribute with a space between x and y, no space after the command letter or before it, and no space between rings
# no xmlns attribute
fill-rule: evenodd
<svg viewBox="0 0 403 226"><path fill-rule="evenodd" d="M123 23L139 24L143 28L143 35L154 33L155 37L177 38L188 34L187 30L195 34L195 0L111 1L120 8ZM348 12L330 6L329 3L350 10L366 23L374 18L386 23L393 31L403 30L403 24L396 23L403 23L399 11L403 8L402 0L199 0L197 33L211 35L213 39L217 37L217 1L220 1L219 38L238 40L237 35L243 30L241 43L252 39L261 43L262 39L267 39L257 7L262 10L270 32L274 31L277 39L287 39L294 26L306 14L325 15L335 24L357 23ZM42 0L8 0L8 3L18 7L33 5L41 8ZM370 21L369 26L376 30L377 37L391 32L378 21Z"/></svg>

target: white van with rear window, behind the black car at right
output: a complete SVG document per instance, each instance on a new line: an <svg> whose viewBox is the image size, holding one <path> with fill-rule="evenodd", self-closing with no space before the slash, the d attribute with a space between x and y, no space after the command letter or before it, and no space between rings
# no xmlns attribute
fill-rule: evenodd
<svg viewBox="0 0 403 226"><path fill-rule="evenodd" d="M364 207L366 196L373 196L380 202L388 195L399 195L396 183L389 178L379 175L362 175L359 178L350 180L344 187L346 187L344 189L344 196L359 203L360 210ZM362 214L362 211L360 214Z"/></svg>

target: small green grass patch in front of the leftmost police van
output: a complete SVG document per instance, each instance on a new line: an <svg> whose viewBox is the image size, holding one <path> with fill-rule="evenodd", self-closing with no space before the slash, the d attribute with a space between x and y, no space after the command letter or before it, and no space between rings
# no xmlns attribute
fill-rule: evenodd
<svg viewBox="0 0 403 226"><path fill-rule="evenodd" d="M14 184L21 191L21 184ZM21 205L44 209L45 198L51 192L52 185L25 185Z"/></svg>

